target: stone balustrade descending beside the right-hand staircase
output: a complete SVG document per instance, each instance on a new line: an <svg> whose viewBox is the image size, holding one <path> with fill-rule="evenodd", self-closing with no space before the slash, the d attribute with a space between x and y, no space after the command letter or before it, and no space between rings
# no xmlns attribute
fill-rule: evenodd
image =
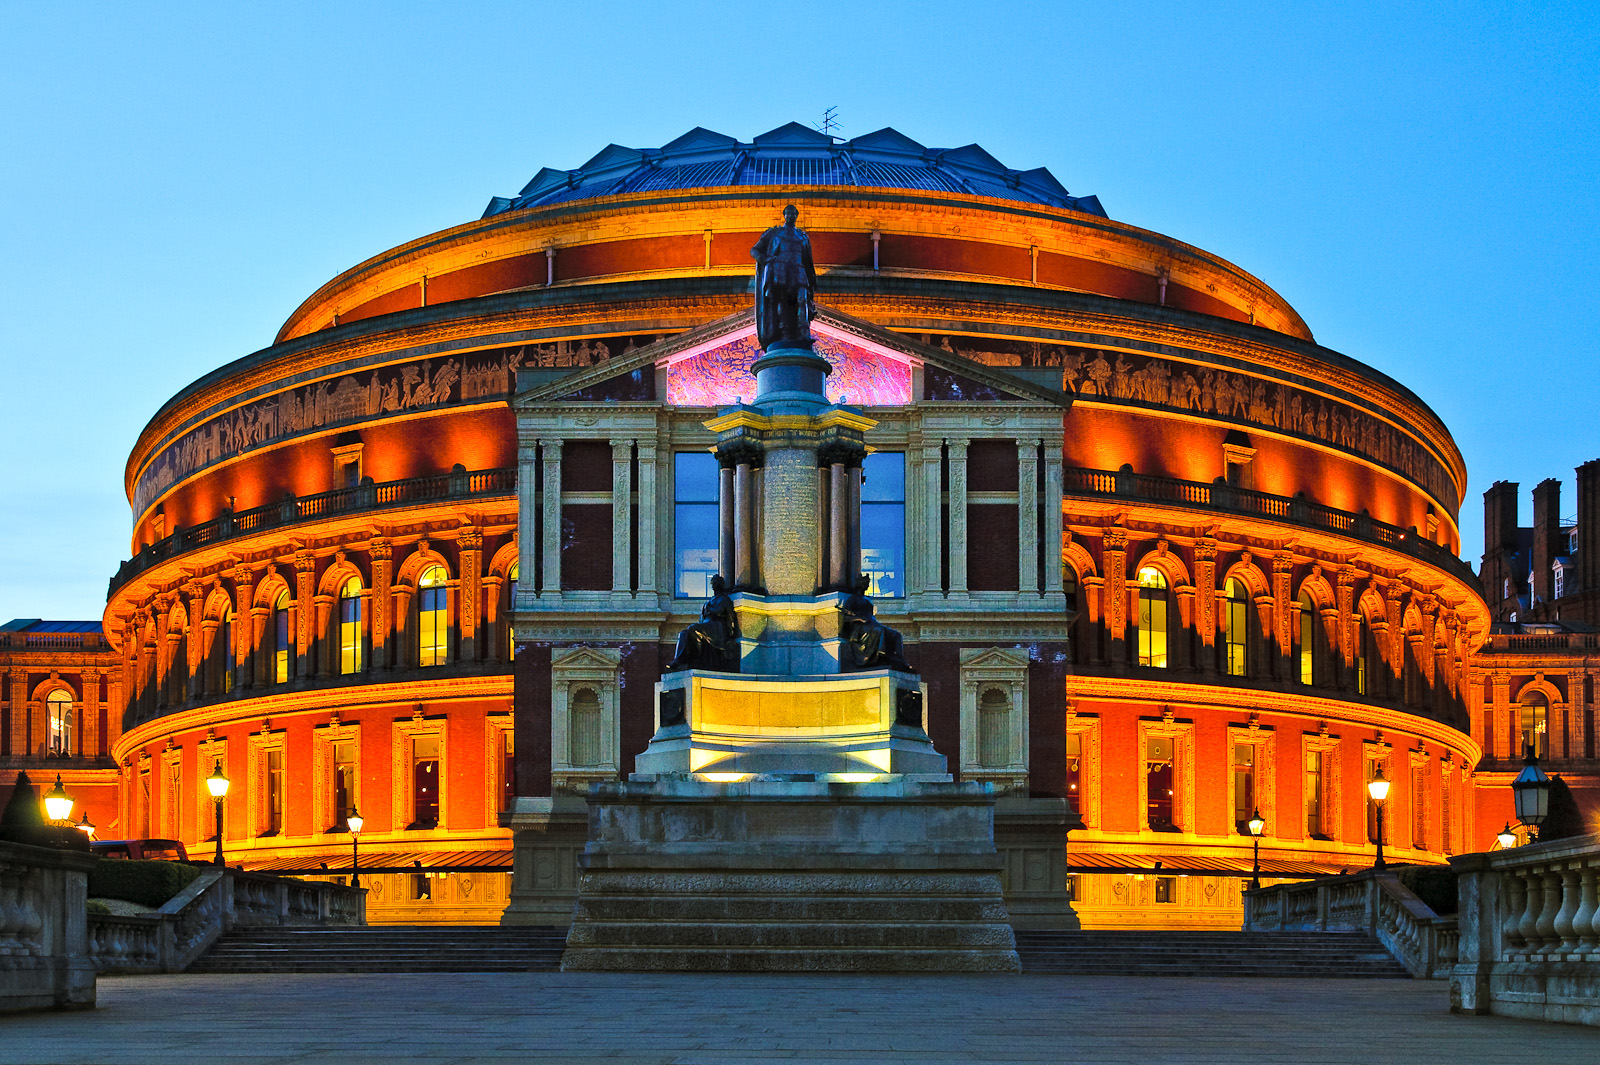
<svg viewBox="0 0 1600 1065"><path fill-rule="evenodd" d="M1245 892L1248 932L1371 932L1418 979L1448 979L1456 966L1454 916L1440 916L1394 873L1272 884Z"/></svg>

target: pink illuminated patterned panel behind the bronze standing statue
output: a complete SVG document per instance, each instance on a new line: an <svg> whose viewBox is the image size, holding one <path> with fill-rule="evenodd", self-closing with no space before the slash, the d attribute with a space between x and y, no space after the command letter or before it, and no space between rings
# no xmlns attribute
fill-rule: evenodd
<svg viewBox="0 0 1600 1065"><path fill-rule="evenodd" d="M853 406L902 406L912 401L910 363L818 331L816 353L829 361L827 398ZM731 337L667 366L667 403L726 406L755 397L750 363L762 355L755 334Z"/></svg>

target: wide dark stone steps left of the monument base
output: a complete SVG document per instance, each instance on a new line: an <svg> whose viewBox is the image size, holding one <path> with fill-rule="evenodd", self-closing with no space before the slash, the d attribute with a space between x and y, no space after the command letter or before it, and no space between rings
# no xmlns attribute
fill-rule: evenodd
<svg viewBox="0 0 1600 1065"><path fill-rule="evenodd" d="M554 972L565 945L560 927L246 927L189 972Z"/></svg>

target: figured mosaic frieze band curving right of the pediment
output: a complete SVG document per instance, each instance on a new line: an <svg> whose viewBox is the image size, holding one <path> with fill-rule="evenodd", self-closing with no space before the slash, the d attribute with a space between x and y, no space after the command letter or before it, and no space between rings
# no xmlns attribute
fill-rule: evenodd
<svg viewBox="0 0 1600 1065"><path fill-rule="evenodd" d="M1094 401L1195 411L1354 451L1410 478L1451 510L1461 505L1445 465L1414 437L1360 408L1293 385L1069 344L928 334L918 339L990 366L1059 366L1066 384Z"/></svg>

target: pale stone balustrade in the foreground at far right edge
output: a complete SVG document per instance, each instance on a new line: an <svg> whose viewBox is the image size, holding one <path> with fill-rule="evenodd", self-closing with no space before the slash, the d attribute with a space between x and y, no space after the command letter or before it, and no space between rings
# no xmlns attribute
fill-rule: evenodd
<svg viewBox="0 0 1600 1065"><path fill-rule="evenodd" d="M1600 1025L1600 836L1450 859L1456 1012Z"/></svg>

